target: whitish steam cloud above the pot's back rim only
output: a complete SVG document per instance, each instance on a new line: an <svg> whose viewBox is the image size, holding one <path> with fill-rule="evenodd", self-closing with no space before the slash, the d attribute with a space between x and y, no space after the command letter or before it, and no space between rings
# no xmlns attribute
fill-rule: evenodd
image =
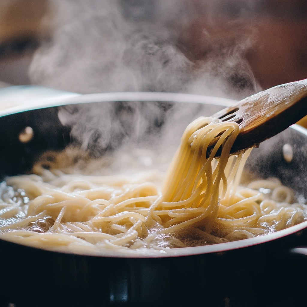
<svg viewBox="0 0 307 307"><path fill-rule="evenodd" d="M243 28L226 43L202 29L206 56L185 52L189 42L182 33L197 19L212 20L219 1L52 2L54 33L33 58L33 84L78 93L168 91L234 99L259 89L243 57L251 45Z"/></svg>

